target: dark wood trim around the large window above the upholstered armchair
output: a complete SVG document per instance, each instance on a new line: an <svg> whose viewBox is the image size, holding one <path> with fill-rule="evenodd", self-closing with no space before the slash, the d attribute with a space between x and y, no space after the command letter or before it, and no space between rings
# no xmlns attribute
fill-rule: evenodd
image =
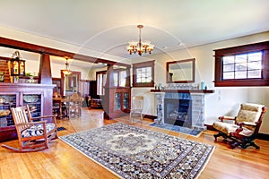
<svg viewBox="0 0 269 179"><path fill-rule="evenodd" d="M262 51L262 78L259 79L222 79L222 56L247 54ZM216 49L215 52L215 87L269 86L269 41L248 44L239 47Z"/></svg>

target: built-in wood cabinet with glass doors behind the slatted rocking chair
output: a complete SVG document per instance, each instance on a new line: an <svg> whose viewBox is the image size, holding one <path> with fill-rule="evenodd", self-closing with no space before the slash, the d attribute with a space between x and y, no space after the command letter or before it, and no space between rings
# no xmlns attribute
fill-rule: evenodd
<svg viewBox="0 0 269 179"><path fill-rule="evenodd" d="M54 87L52 84L0 83L0 141L17 137L11 107L28 105L32 116L51 115Z"/></svg>

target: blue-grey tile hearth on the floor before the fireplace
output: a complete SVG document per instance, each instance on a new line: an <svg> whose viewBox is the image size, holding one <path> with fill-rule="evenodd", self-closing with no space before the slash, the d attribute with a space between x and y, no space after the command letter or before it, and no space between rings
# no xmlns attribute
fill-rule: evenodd
<svg viewBox="0 0 269 179"><path fill-rule="evenodd" d="M173 124L155 124L152 123L150 124L153 127L159 127L161 129L166 129L169 131L174 131L174 132L182 132L182 133L186 133L189 135L194 135L194 136L199 136L199 134L202 132L201 130L197 130L197 129L190 129L187 127L183 127L183 126L178 126L178 125L173 125Z"/></svg>

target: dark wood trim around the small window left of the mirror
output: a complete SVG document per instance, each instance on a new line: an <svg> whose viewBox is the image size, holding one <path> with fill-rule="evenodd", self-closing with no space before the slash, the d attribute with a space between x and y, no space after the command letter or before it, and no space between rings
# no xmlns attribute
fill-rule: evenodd
<svg viewBox="0 0 269 179"><path fill-rule="evenodd" d="M155 61L143 62L133 64L133 87L154 87L154 63ZM136 81L136 69L143 67L152 68L152 81L151 82L137 82Z"/></svg>

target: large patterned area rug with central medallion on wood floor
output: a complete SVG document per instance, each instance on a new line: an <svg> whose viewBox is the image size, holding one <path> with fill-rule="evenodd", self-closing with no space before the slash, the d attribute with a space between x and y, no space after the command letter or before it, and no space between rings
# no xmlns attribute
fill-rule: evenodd
<svg viewBox="0 0 269 179"><path fill-rule="evenodd" d="M122 178L196 178L214 149L121 123L60 139Z"/></svg>

